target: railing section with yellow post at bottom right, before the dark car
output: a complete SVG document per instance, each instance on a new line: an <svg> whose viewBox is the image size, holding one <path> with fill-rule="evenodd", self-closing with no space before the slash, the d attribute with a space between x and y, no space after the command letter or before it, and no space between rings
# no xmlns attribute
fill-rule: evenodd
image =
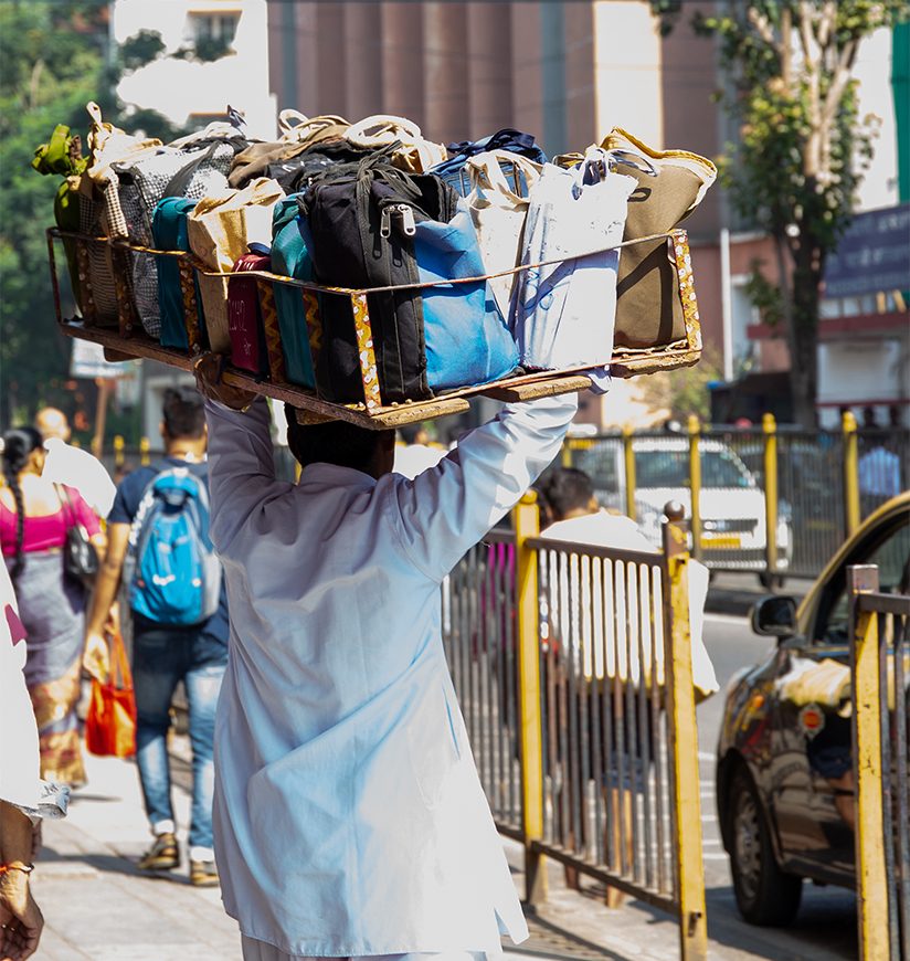
<svg viewBox="0 0 910 961"><path fill-rule="evenodd" d="M910 596L870 564L848 589L860 958L910 961Z"/></svg>

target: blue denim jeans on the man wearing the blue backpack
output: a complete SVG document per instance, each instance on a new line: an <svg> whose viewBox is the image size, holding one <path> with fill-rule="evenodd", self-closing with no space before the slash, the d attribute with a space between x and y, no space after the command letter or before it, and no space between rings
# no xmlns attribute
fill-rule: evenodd
<svg viewBox="0 0 910 961"><path fill-rule="evenodd" d="M193 799L190 846L212 846L215 706L228 665L228 645L199 630L136 624L133 642L136 690L136 761L151 824L173 821L168 711L178 682L187 688Z"/></svg>

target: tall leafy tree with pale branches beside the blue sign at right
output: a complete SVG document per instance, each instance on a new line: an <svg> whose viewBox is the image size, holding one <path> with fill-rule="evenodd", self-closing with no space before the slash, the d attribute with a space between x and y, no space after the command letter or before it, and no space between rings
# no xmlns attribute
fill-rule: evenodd
<svg viewBox="0 0 910 961"><path fill-rule="evenodd" d="M652 0L670 29L681 4ZM907 0L730 0L696 14L719 41L724 107L740 140L721 158L736 208L771 235L796 420L815 426L821 283L850 222L871 157L875 118L860 117L853 76L860 43L910 18Z"/></svg>

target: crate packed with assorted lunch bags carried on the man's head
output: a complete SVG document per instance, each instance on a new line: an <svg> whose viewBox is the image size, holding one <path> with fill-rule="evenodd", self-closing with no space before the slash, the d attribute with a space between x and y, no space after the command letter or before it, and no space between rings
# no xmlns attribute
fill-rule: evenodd
<svg viewBox="0 0 910 961"><path fill-rule="evenodd" d="M87 156L57 127L33 163L65 178L65 332L184 367L214 350L261 392L368 413L699 357L677 225L716 170L695 154L614 129L549 160L510 128L446 148L295 110L265 142L230 109L165 145L88 113Z"/></svg>

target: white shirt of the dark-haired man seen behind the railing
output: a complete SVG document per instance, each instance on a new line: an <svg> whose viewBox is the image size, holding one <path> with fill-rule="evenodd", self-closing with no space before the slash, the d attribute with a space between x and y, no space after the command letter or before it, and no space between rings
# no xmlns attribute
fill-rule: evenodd
<svg viewBox="0 0 910 961"><path fill-rule="evenodd" d="M654 545L638 530L635 521L606 510L557 521L541 537L616 550L656 553ZM657 682L663 684L663 585L659 579L655 581L655 590L649 596L647 584L641 579L629 582L621 566L607 569L603 575L605 583L602 602L611 606L610 613L605 615L604 610L597 610L590 598L588 604L578 603L579 592L588 593L583 584L591 578L590 559L575 555L569 559L568 564L559 564L554 557L550 557L544 564L551 574L551 624L563 637L573 638L580 646L581 650L576 653L581 655L585 676L603 678L605 674L607 677L615 677L618 673L623 680L631 678L638 682L642 676L638 653L641 641L646 680L649 680L652 667L656 663ZM708 568L697 560L689 560L688 572L692 680L699 694L709 697L720 689L720 685L702 636L705 602L708 598ZM627 611L627 620L626 616L614 620L612 605L623 612ZM654 617L639 616L643 611L653 611ZM631 643L626 644L627 640Z"/></svg>

